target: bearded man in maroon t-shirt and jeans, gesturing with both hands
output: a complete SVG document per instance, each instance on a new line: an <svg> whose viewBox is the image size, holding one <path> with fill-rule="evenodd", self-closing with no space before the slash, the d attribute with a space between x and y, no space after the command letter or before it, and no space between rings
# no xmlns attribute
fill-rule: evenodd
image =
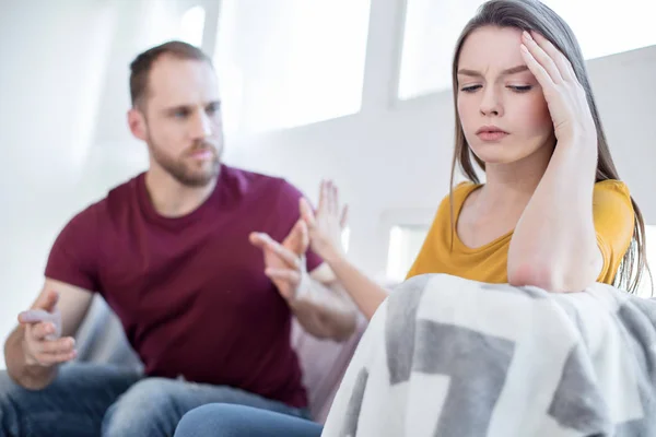
<svg viewBox="0 0 656 437"><path fill-rule="evenodd" d="M5 342L0 436L171 436L210 402L306 416L291 316L340 340L355 310L320 259L305 256L301 192L221 164L216 76L199 49L171 42L141 54L130 93L128 122L148 144L149 169L58 236L43 291ZM94 292L145 376L59 368L75 357Z"/></svg>

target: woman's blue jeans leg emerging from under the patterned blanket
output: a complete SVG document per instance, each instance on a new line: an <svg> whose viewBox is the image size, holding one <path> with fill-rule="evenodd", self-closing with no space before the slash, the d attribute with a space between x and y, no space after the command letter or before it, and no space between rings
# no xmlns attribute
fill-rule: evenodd
<svg viewBox="0 0 656 437"><path fill-rule="evenodd" d="M244 405L210 404L185 414L174 437L319 437L321 425Z"/></svg>

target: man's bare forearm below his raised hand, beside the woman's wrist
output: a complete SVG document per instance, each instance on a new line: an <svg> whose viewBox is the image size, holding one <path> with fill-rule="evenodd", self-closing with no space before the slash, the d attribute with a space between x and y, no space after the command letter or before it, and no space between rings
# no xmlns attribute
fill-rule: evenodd
<svg viewBox="0 0 656 437"><path fill-rule="evenodd" d="M336 283L327 286L308 277L290 307L301 326L317 338L343 341L355 331L355 305Z"/></svg>

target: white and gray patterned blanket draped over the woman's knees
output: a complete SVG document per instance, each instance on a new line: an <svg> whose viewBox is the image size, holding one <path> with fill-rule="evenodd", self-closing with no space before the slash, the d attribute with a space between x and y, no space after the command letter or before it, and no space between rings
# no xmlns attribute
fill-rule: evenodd
<svg viewBox="0 0 656 437"><path fill-rule="evenodd" d="M323 436L656 436L656 300L431 274L372 319Z"/></svg>

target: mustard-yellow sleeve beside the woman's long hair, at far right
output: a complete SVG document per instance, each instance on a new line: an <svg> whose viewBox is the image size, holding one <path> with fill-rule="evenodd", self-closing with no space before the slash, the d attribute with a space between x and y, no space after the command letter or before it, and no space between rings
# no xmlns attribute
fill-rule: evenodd
<svg viewBox="0 0 656 437"><path fill-rule="evenodd" d="M626 186L617 180L595 185L593 215L597 245L604 257L598 282L612 284L626 253L634 228L634 212Z"/></svg>

